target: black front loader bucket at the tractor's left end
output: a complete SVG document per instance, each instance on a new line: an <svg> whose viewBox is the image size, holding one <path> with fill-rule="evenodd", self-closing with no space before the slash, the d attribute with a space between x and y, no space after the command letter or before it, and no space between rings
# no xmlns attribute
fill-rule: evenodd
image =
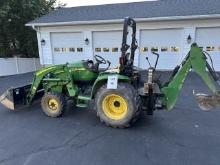
<svg viewBox="0 0 220 165"><path fill-rule="evenodd" d="M0 96L0 103L10 110L18 109L21 105L26 105L30 88L31 85L10 88Z"/></svg>

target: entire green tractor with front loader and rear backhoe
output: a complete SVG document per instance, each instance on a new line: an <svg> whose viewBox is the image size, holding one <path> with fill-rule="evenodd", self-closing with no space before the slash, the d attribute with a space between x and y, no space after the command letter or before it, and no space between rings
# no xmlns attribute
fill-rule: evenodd
<svg viewBox="0 0 220 165"><path fill-rule="evenodd" d="M127 44L129 28L132 29L130 45ZM141 83L140 71L133 64L138 47L136 43L136 22L132 18L125 18L118 68L109 69L110 62L98 55L94 56L95 61L46 67L35 73L32 84L8 89L0 101L7 108L15 110L20 105L30 106L34 100L41 98L45 114L60 117L65 112L68 100L82 108L88 107L94 100L97 116L102 122L114 128L125 128L138 119L141 111L153 115L157 109L173 109L184 80L192 69L213 92L213 95L194 93L199 107L210 110L220 105L217 90L219 76L213 65L207 62L210 56L197 44L192 44L188 55L174 69L169 81L161 84L155 76L159 59L159 54L155 52L152 52L157 56L155 65L149 67L147 80ZM106 64L106 69L100 69L100 64Z"/></svg>

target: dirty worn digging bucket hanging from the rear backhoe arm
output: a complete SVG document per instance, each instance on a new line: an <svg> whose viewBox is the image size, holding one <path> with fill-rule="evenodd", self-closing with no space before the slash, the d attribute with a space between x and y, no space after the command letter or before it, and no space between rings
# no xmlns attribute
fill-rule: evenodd
<svg viewBox="0 0 220 165"><path fill-rule="evenodd" d="M193 92L193 95L197 101L198 106L203 111L210 111L214 108L217 108L220 106L220 95L207 95L204 93L195 93Z"/></svg>

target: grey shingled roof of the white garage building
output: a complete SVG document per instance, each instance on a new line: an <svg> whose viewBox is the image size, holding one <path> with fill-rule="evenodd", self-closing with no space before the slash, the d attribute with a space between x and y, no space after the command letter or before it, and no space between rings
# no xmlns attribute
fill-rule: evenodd
<svg viewBox="0 0 220 165"><path fill-rule="evenodd" d="M220 17L219 0L158 0L61 8L35 19L27 26L46 26L86 22L123 20L130 16L139 19Z"/></svg>

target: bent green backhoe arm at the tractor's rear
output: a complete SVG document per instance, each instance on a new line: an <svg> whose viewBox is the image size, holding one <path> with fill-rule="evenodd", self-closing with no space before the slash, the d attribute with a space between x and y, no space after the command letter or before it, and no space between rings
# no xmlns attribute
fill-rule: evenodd
<svg viewBox="0 0 220 165"><path fill-rule="evenodd" d="M202 78L202 80L214 94L213 96L206 96L205 98L203 98L203 102L200 102L200 105L210 104L204 102L207 101L207 99L211 99L209 101L216 101L216 97L219 97L215 83L215 81L217 81L217 77L214 75L213 70L211 70L210 65L207 63L207 58L202 50L197 46L197 44L192 44L191 50L189 51L186 58L183 60L182 64L180 66L177 66L177 69L172 75L170 81L161 88L161 91L164 95L162 102L167 110L171 110L175 106L179 93L183 87L184 81L191 69ZM197 95L197 98L198 96L199 98L201 97L201 95Z"/></svg>

